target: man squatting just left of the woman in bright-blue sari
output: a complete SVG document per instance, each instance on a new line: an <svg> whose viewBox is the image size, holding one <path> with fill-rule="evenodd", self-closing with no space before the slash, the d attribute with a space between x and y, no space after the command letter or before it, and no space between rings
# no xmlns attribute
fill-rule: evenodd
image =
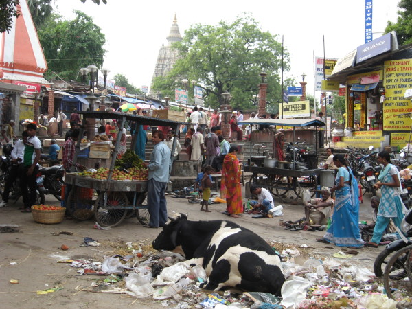
<svg viewBox="0 0 412 309"><path fill-rule="evenodd" d="M322 187L322 198L312 198L305 205L306 222L303 225L310 224L312 220L313 225L326 225L328 218L332 216L334 207L334 200L330 198L330 190L328 187Z"/></svg>

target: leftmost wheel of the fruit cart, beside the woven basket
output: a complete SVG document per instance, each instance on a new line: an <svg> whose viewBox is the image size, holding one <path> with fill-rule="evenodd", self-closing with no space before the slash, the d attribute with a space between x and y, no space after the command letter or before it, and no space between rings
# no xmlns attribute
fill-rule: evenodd
<svg viewBox="0 0 412 309"><path fill-rule="evenodd" d="M66 208L76 220L90 220L93 218L93 205L95 203L95 190L84 192L87 188L73 186L67 197Z"/></svg>

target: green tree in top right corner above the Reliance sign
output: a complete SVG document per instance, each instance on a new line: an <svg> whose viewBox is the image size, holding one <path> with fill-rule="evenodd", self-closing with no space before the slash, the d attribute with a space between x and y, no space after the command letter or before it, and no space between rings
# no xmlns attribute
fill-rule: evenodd
<svg viewBox="0 0 412 309"><path fill-rule="evenodd" d="M398 21L388 21L385 33L396 31L399 45L406 45L412 43L412 0L400 0L398 8Z"/></svg>

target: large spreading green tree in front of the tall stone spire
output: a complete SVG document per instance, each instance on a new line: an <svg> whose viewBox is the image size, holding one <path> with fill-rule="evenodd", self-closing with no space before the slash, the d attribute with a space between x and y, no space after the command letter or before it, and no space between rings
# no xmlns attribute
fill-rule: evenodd
<svg viewBox="0 0 412 309"><path fill-rule="evenodd" d="M181 87L181 80L196 80L204 90L208 106L216 108L222 104L222 93L229 91L233 108L253 108L251 100L258 95L259 73L268 73L267 100L278 102L282 87L279 82L282 45L276 36L262 32L260 24L244 15L218 25L193 25L185 32L181 42L173 47L182 58L176 61L168 76L156 78L153 90L174 98L174 87ZM284 69L288 70L288 54ZM190 91L189 91L190 92Z"/></svg>

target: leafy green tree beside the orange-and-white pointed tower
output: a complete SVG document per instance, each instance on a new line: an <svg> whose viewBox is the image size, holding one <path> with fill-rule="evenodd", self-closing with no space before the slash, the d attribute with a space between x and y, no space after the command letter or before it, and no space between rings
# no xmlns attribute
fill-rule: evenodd
<svg viewBox="0 0 412 309"><path fill-rule="evenodd" d="M52 14L38 30L49 67L45 78L55 78L53 72L56 72L64 80L76 80L80 68L92 64L102 67L106 38L91 17L75 12L77 16L72 21Z"/></svg>

